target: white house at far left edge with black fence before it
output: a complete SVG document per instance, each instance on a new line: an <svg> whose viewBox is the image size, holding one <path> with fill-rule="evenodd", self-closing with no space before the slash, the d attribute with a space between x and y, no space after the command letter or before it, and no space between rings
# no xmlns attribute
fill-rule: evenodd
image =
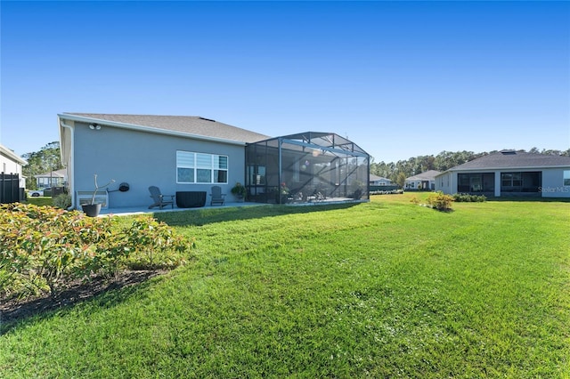
<svg viewBox="0 0 570 379"><path fill-rule="evenodd" d="M2 202L20 201L26 188L26 178L22 175L22 166L28 165L25 159L18 157L11 149L0 145L0 175L2 187ZM18 175L18 182L15 176ZM14 180L12 182L12 180ZM12 187L13 186L13 187ZM16 194L14 195L14 190ZM5 195L5 196L4 196Z"/></svg>

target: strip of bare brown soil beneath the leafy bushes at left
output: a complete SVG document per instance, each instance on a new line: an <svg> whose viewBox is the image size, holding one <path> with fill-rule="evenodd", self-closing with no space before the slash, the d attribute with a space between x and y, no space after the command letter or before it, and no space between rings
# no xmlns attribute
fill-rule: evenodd
<svg viewBox="0 0 570 379"><path fill-rule="evenodd" d="M115 278L95 277L88 282L77 281L56 296L44 295L25 301L12 299L0 303L0 323L12 323L36 316L45 311L56 310L90 299L98 294L126 286L134 286L149 278L167 272L166 270L127 270Z"/></svg>

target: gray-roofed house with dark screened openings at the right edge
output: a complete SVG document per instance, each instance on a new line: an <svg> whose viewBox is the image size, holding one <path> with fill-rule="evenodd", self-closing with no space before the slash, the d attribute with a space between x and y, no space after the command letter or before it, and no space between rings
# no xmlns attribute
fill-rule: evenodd
<svg viewBox="0 0 570 379"><path fill-rule="evenodd" d="M502 150L440 173L436 189L497 198L570 198L570 157Z"/></svg>

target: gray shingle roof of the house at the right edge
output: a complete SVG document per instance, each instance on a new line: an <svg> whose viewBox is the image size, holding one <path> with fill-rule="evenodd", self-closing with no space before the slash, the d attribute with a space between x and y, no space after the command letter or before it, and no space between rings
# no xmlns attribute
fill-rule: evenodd
<svg viewBox="0 0 570 379"><path fill-rule="evenodd" d="M570 166L570 157L527 153L515 150L501 150L498 153L474 159L463 165L456 165L448 171L560 166Z"/></svg>

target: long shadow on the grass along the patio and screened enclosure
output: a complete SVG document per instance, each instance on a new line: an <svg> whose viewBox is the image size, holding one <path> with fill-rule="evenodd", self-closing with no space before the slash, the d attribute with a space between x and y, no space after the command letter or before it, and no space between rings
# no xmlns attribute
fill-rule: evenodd
<svg viewBox="0 0 570 379"><path fill-rule="evenodd" d="M241 221L275 217L285 214L308 214L312 212L328 212L347 209L362 203L319 204L312 206L233 206L224 208L208 208L187 212L167 212L153 214L160 222L171 226L202 226L214 222Z"/></svg>

